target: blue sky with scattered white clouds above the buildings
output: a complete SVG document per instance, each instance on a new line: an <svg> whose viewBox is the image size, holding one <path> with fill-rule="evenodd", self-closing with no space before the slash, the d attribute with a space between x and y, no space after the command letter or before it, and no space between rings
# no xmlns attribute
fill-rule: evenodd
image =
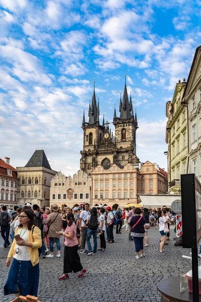
<svg viewBox="0 0 201 302"><path fill-rule="evenodd" d="M112 122L125 72L137 109L137 156L166 168L165 104L199 46L201 1L0 0L0 158L79 169L83 108L95 78ZM118 112L119 113L119 112ZM112 127L113 129L113 127Z"/></svg>

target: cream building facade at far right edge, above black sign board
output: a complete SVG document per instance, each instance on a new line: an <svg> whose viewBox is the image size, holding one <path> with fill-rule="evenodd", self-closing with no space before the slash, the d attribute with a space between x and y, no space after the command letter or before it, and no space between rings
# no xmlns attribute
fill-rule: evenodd
<svg viewBox="0 0 201 302"><path fill-rule="evenodd" d="M187 173L201 181L201 46L195 50L182 101L188 107Z"/></svg>

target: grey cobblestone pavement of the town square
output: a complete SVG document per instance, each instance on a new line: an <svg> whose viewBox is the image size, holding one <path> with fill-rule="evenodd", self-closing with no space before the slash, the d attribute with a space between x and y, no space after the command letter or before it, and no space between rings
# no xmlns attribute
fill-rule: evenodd
<svg viewBox="0 0 201 302"><path fill-rule="evenodd" d="M173 228L173 226L172 226ZM83 278L71 274L70 279L59 281L63 273L63 258L40 259L40 285L38 296L42 302L132 302L160 301L157 283L171 276L180 276L190 270L190 261L181 258L189 249L174 247L173 229L171 240L165 246L166 255L159 254L159 229L148 231L149 247L145 258L135 259L134 244L128 241L128 233L115 234L115 244L107 245L107 252L86 256L80 254L81 263L87 273ZM1 236L0 236L1 237ZM99 239L98 239L99 245ZM63 238L61 238L63 254ZM6 268L8 248L0 239L0 301L11 301L15 295L4 296L4 284L9 269Z"/></svg>

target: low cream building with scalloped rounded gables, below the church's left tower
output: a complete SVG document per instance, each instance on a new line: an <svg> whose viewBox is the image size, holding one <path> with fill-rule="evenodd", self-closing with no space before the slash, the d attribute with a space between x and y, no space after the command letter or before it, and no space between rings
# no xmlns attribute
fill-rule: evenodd
<svg viewBox="0 0 201 302"><path fill-rule="evenodd" d="M79 170L72 177L66 177L61 171L51 180L50 205L58 204L60 207L72 207L75 203L91 203L92 180L89 175Z"/></svg>

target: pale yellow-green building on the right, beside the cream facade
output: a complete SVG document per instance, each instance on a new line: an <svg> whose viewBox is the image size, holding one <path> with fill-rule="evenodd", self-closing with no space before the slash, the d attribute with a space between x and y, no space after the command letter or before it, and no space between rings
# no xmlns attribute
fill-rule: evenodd
<svg viewBox="0 0 201 302"><path fill-rule="evenodd" d="M167 102L166 143L168 144L168 179L170 194L181 189L180 175L187 173L188 129L187 106L181 104L185 79L176 84L172 102Z"/></svg>

